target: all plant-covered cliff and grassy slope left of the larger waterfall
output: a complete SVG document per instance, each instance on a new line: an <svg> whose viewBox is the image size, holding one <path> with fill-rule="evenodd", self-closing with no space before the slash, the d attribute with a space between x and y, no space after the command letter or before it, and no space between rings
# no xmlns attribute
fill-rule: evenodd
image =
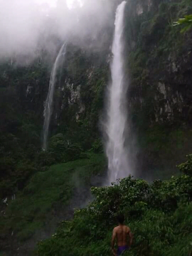
<svg viewBox="0 0 192 256"><path fill-rule="evenodd" d="M59 49L59 39L50 40ZM98 117L108 51L68 45L57 74L46 151L43 109L56 56L42 49L29 65L22 66L20 56L0 61L0 250L16 251L51 234L61 215L73 215L73 197L74 205L85 203L91 178L106 170ZM2 203L6 198L8 206Z"/></svg>

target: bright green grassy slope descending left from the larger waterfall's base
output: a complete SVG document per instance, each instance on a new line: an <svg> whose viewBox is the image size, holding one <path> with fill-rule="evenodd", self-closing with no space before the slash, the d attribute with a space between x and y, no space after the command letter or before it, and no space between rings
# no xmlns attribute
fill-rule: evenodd
<svg viewBox="0 0 192 256"><path fill-rule="evenodd" d="M104 155L90 154L89 159L53 165L47 171L37 172L16 195L16 200L9 202L6 214L0 216L0 233L9 237L13 231L20 241L30 239L37 230L53 222L58 207L62 210L69 205L75 188L90 187L90 178L102 175L105 166Z"/></svg>

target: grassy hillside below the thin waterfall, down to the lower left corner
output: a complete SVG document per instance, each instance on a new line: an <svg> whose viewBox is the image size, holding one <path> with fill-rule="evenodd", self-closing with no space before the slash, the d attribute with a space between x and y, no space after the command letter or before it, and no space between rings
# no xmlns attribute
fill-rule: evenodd
<svg viewBox="0 0 192 256"><path fill-rule="evenodd" d="M74 208L91 200L90 187L101 186L105 176L105 156L90 153L86 159L36 172L15 200L1 203L0 251L28 255L61 220L73 217Z"/></svg>

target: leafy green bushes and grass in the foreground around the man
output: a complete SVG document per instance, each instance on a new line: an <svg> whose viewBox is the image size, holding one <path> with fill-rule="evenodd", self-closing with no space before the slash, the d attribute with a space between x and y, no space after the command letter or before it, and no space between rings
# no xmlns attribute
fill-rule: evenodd
<svg viewBox="0 0 192 256"><path fill-rule="evenodd" d="M185 166L191 169L191 162ZM38 256L110 255L118 213L125 215L134 234L132 249L124 255L191 254L192 176L153 183L129 176L91 192L95 197L91 204L76 210L73 220L60 223L52 238L38 243Z"/></svg>

